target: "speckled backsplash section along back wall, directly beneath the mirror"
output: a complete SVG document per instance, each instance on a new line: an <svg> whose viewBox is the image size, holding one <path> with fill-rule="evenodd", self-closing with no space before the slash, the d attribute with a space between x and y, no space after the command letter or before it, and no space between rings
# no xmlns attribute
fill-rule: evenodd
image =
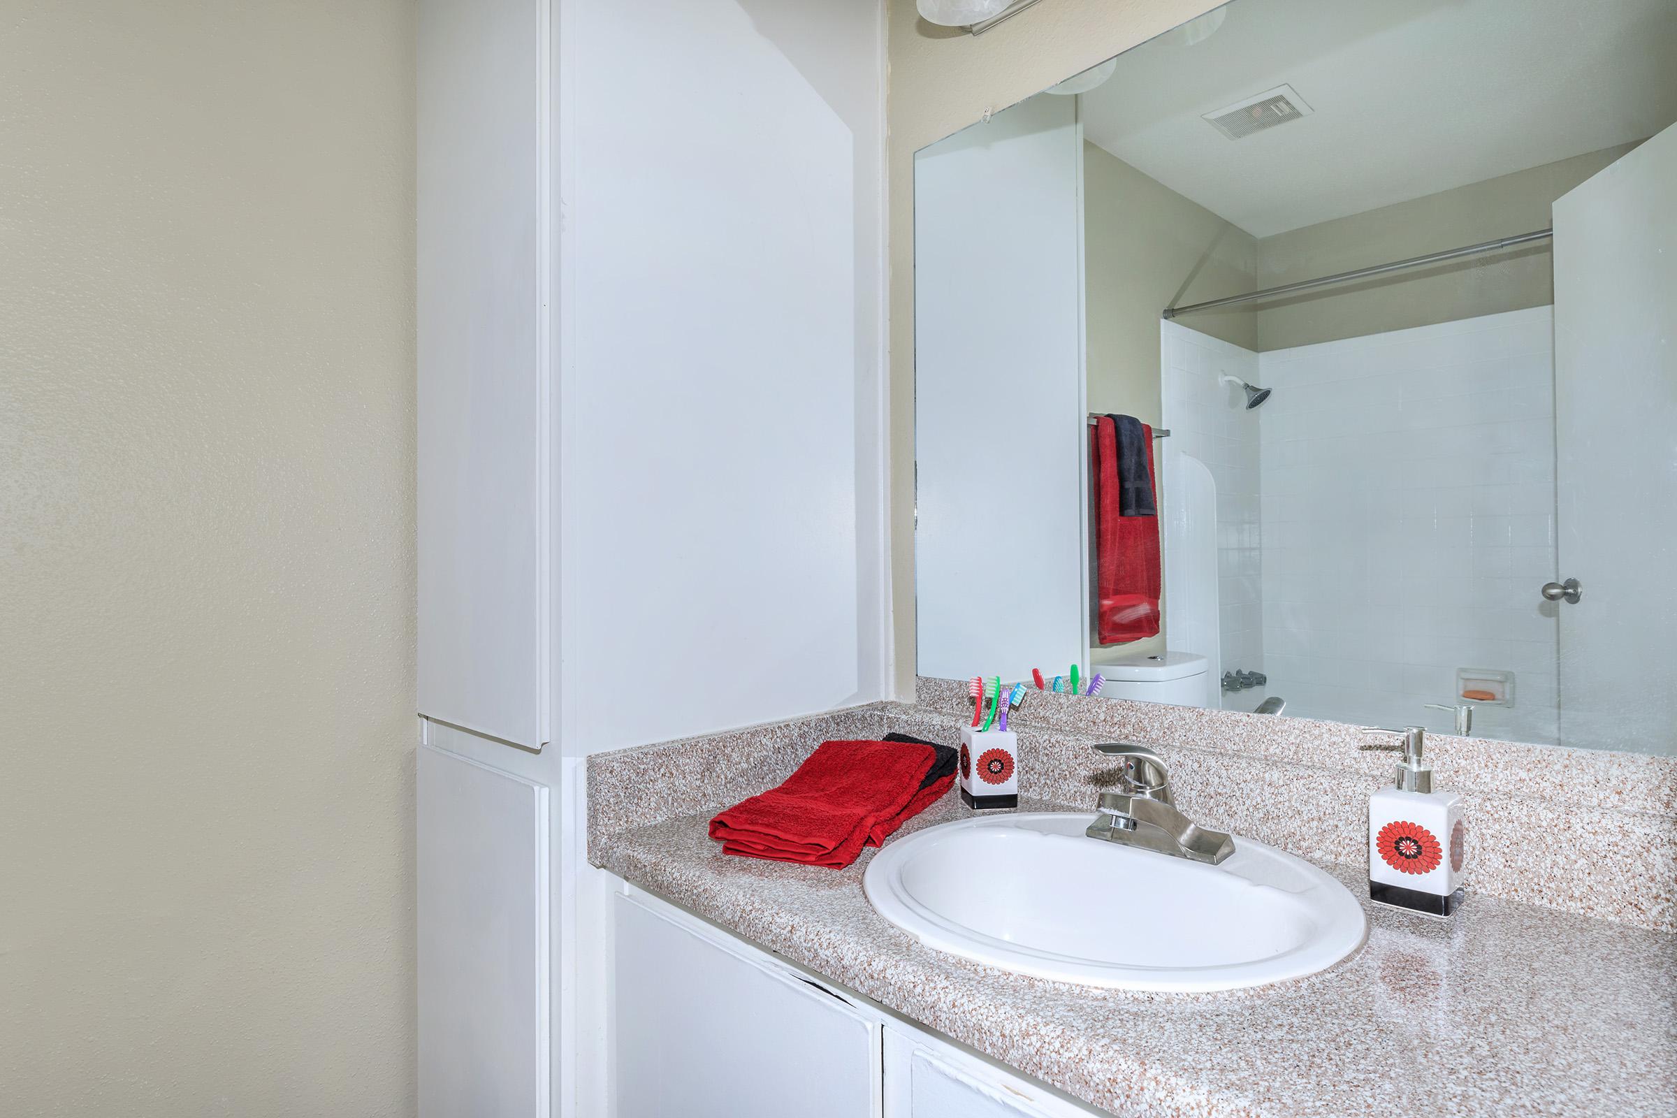
<svg viewBox="0 0 1677 1118"><path fill-rule="evenodd" d="M887 722L937 741L971 711L959 681L916 681ZM1110 764L1095 741L1157 749L1197 823L1313 858L1363 865L1368 795L1394 754L1355 726L1030 692L1020 793L1093 810ZM939 732L942 738L939 738ZM1430 736L1441 788L1466 800L1466 885L1526 903L1677 932L1677 758Z"/></svg>

